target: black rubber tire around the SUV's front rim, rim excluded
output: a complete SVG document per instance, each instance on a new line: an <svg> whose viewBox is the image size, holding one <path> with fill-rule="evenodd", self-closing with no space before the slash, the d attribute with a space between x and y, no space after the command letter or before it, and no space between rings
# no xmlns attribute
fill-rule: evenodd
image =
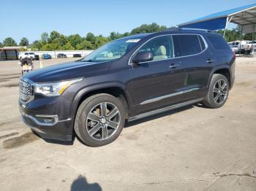
<svg viewBox="0 0 256 191"><path fill-rule="evenodd" d="M99 141L97 139L91 138L88 131L86 130L86 118L91 109L93 109L94 106L97 106L102 102L109 102L110 104L114 104L115 106L117 106L120 112L121 121L120 125L118 126L118 130L116 130L116 133L114 133L113 136L111 136L109 139ZM80 104L78 113L75 117L75 132L77 133L77 136L80 138L80 140L83 141L83 143L85 143L86 145L90 147L101 147L103 145L110 144L118 138L121 130L124 128L124 122L124 106L123 104L121 104L121 101L119 101L118 98L108 94L99 94L96 96L94 95L90 98L87 98L85 101L83 101L82 104Z"/></svg>

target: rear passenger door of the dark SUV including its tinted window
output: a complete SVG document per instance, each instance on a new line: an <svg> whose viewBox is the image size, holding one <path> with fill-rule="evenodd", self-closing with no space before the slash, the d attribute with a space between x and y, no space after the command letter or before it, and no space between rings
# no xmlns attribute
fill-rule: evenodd
<svg viewBox="0 0 256 191"><path fill-rule="evenodd" d="M173 35L176 57L181 62L183 79L179 92L182 101L203 98L208 91L208 79L215 57L203 36L198 34Z"/></svg>

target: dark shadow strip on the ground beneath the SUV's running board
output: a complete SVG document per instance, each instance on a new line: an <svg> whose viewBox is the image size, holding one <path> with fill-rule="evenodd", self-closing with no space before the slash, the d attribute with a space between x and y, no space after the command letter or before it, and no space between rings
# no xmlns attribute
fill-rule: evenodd
<svg viewBox="0 0 256 191"><path fill-rule="evenodd" d="M189 106L184 106L184 107L181 107L181 108L178 108L178 109L173 109L173 110L170 110L170 111L167 111L167 112L163 112L163 113L160 113L160 114L154 114L152 116L145 117L145 118L142 118L140 120L135 120L135 121L132 121L132 122L126 121L124 128L130 128L130 127L138 125L138 124L140 124L142 122L156 120L157 118L166 117L166 116L168 116L170 114L176 114L178 112L183 112L183 111L185 111L187 109L192 109L195 106L197 106L197 104L193 104L193 105L189 105Z"/></svg>

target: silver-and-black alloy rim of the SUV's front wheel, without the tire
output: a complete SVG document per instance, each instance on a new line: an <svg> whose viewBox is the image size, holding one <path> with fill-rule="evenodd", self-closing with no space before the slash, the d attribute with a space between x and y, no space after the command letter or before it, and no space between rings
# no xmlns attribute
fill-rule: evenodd
<svg viewBox="0 0 256 191"><path fill-rule="evenodd" d="M93 139L109 139L119 127L120 112L114 104L102 102L94 106L86 118L86 130Z"/></svg>

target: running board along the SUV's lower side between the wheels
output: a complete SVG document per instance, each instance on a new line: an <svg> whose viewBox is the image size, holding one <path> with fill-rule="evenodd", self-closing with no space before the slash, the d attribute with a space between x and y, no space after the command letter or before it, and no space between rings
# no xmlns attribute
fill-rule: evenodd
<svg viewBox="0 0 256 191"><path fill-rule="evenodd" d="M151 116L151 115L154 115L154 114L159 114L159 113L162 113L162 112L167 112L167 111L170 111L172 109L180 108L182 106L188 106L188 105L191 105L191 104L195 104L197 102L203 101L203 99L204 98L194 99L194 100L186 101L186 102L183 102L183 103L180 103L180 104L175 104L175 105L172 105L172 106L167 106L167 107L164 107L164 108L161 108L161 109L157 109L157 110L154 110L154 111L151 111L151 112L146 112L146 113L143 113L143 114L138 114L138 115L136 115L134 117L129 117L128 122L134 121L134 120L139 120L141 118L148 117L148 116Z"/></svg>

